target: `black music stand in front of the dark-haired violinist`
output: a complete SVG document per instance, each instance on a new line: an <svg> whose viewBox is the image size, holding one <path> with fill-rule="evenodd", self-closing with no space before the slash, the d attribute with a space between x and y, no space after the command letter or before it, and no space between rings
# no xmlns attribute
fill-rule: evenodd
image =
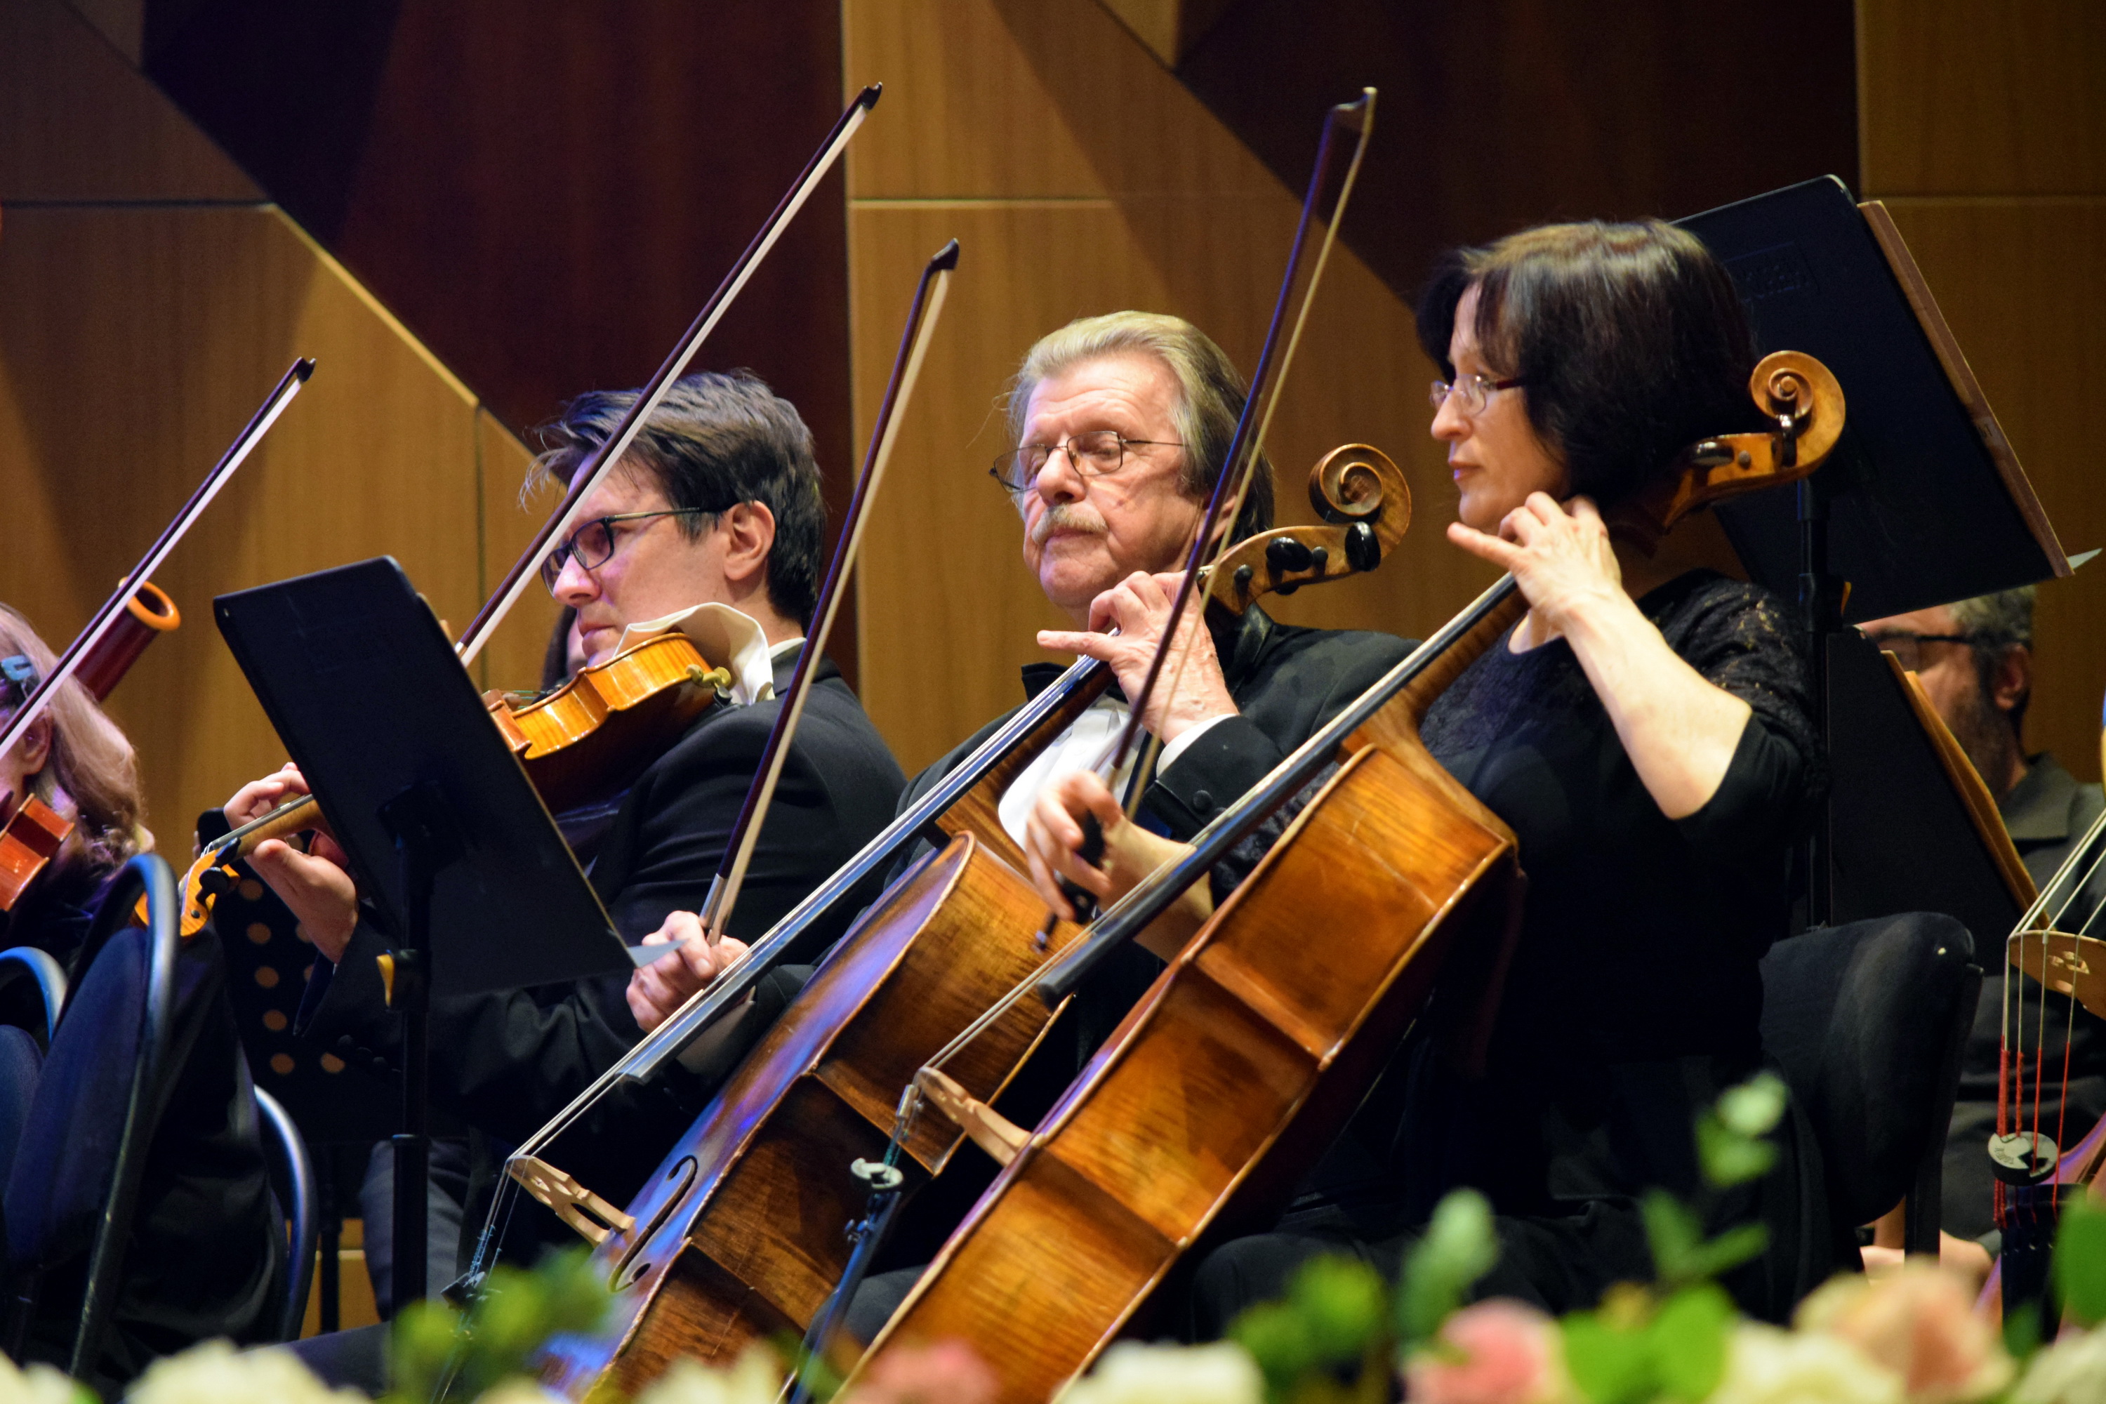
<svg viewBox="0 0 2106 1404"><path fill-rule="evenodd" d="M360 890L394 932L394 1301L425 1292L430 1000L634 968L556 823L392 558L213 600Z"/></svg>

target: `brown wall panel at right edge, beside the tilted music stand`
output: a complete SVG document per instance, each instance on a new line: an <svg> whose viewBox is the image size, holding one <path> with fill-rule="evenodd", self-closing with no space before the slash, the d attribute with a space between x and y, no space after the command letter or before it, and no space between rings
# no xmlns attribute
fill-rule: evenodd
<svg viewBox="0 0 2106 1404"><path fill-rule="evenodd" d="M2106 200L1889 200L1952 335L2072 556L2106 545L2093 410L2106 383ZM2041 585L2026 745L2100 762L2106 570Z"/></svg>

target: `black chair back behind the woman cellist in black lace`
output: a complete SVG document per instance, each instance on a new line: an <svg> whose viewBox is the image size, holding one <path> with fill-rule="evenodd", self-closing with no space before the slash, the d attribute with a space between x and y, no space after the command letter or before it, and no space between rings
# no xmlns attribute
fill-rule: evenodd
<svg viewBox="0 0 2106 1404"><path fill-rule="evenodd" d="M1982 966L1950 916L1908 911L1780 941L1763 958L1763 1046L1822 1147L1839 1233L1908 1206L1938 1252L1938 1185Z"/></svg>

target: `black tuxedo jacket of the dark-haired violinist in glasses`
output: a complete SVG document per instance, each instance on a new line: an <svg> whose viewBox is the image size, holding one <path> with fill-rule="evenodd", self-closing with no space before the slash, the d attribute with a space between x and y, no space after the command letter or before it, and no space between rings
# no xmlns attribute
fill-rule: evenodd
<svg viewBox="0 0 2106 1404"><path fill-rule="evenodd" d="M786 693L796 653L775 661ZM636 945L670 911L699 909L767 747L779 701L706 711L615 808L590 878L621 937ZM821 661L775 802L754 848L731 935L754 941L891 823L903 777L840 669ZM813 960L861 901L840 901L788 960ZM444 939L444 932L438 932ZM297 1031L381 1076L400 1057L375 958L388 932L369 907L343 960L318 960ZM628 975L567 985L432 1000L432 1103L491 1137L518 1143L554 1118L642 1038L623 991ZM670 1065L649 1088L625 1088L590 1118L564 1168L598 1175L594 1189L651 1170L706 1103L708 1088ZM600 1162L592 1166L588 1162ZM617 1198L617 1202L621 1202Z"/></svg>

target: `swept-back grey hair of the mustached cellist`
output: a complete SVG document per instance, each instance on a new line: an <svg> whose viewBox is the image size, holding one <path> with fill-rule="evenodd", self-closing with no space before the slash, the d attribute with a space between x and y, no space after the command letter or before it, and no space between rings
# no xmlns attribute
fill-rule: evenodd
<svg viewBox="0 0 2106 1404"><path fill-rule="evenodd" d="M1154 356L1177 381L1177 438L1184 442L1181 482L1186 495L1205 501L1221 480L1228 444L1236 438L1236 419L1249 389L1228 354L1200 328L1184 318L1160 312L1106 312L1076 318L1049 333L1024 354L1009 383L1009 442L1024 442L1024 421L1030 415L1032 392L1040 381L1064 375L1082 362L1104 356ZM1230 533L1240 541L1272 526L1272 463L1259 455L1251 474L1251 490L1243 499L1243 516Z"/></svg>

